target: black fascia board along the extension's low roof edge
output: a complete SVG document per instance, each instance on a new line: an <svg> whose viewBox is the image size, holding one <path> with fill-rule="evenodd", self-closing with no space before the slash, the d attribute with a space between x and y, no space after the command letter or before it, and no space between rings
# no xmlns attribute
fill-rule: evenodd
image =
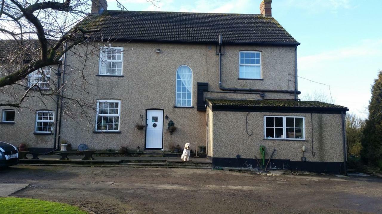
<svg viewBox="0 0 382 214"><path fill-rule="evenodd" d="M212 111L217 112L291 112L291 113L334 113L346 112L348 108L332 107L275 107L275 106L246 106L246 105L216 105L212 104Z"/></svg>

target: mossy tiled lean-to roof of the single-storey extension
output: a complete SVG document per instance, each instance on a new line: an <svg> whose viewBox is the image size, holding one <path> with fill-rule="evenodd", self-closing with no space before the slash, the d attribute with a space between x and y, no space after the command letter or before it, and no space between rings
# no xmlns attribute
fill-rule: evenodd
<svg viewBox="0 0 382 214"><path fill-rule="evenodd" d="M347 107L319 101L295 100L230 100L207 99L212 110L280 110L301 112L342 112L348 111Z"/></svg>

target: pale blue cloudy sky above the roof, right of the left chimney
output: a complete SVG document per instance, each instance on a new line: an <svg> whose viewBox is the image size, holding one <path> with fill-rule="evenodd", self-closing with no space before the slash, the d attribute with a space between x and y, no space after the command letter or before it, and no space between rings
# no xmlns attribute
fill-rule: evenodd
<svg viewBox="0 0 382 214"><path fill-rule="evenodd" d="M127 10L260 13L261 0L119 0ZM154 2L154 1L153 1ZM108 0L108 10L119 10ZM273 0L272 16L301 43L298 75L330 85L335 104L367 117L370 87L382 69L382 1ZM329 87L298 79L304 94Z"/></svg>

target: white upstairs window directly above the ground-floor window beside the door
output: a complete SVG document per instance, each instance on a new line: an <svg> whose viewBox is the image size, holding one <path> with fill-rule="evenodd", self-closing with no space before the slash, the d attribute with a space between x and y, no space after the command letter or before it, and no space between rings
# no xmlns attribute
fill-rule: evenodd
<svg viewBox="0 0 382 214"><path fill-rule="evenodd" d="M103 47L100 50L99 75L122 75L123 48Z"/></svg>

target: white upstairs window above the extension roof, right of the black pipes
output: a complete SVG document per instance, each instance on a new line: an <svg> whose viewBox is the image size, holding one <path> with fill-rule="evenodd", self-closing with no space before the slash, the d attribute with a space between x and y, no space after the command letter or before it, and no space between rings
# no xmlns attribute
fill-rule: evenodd
<svg viewBox="0 0 382 214"><path fill-rule="evenodd" d="M240 51L239 78L261 79L261 53Z"/></svg>

